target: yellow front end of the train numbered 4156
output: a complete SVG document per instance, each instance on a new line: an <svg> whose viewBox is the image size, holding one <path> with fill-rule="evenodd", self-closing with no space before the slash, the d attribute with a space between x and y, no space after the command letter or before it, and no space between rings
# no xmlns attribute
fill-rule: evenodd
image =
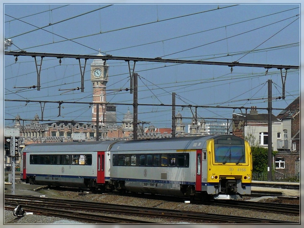
<svg viewBox="0 0 304 228"><path fill-rule="evenodd" d="M202 158L205 173L200 178L197 167L196 192L207 192L216 199L238 199L249 195L252 179L249 143L233 135L220 135L206 140L206 144L206 155L202 151L202 155L206 156L206 160ZM202 185L198 183L200 180Z"/></svg>

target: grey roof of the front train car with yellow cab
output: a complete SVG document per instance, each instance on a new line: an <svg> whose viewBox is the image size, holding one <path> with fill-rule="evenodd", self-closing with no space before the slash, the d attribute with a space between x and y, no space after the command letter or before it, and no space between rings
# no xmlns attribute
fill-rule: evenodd
<svg viewBox="0 0 304 228"><path fill-rule="evenodd" d="M244 143L234 135L204 135L162 139L139 139L129 141L119 141L112 145L111 151L143 151L143 150L181 150L181 149L206 149L208 139L227 140L237 139L237 144Z"/></svg>

